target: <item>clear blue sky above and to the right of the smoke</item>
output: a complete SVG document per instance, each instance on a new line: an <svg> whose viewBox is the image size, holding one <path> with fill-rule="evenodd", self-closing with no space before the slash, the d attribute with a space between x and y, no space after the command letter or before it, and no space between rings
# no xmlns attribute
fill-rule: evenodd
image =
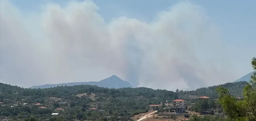
<svg viewBox="0 0 256 121"><path fill-rule="evenodd" d="M67 1L67 0L66 0ZM45 11L44 6L49 3L57 3L60 4L61 7L67 6L67 3L64 0L10 0L10 3L17 8L22 15L31 16L31 13L41 14ZM78 0L78 2L83 2L82 0ZM125 16L127 18L135 18L140 22L145 23L154 23L158 21L158 15L161 11L168 11L170 9L175 9L173 6L179 4L178 0L94 0L95 5L99 8L97 13L103 18L104 23L106 25L113 24L116 19L120 16ZM205 16L207 16L207 22L214 23L214 28L217 28L211 31L214 31L218 34L219 43L215 43L215 49L209 49L204 51L203 47L200 50L197 50L198 53L195 55L200 58L199 62L205 62L206 60L211 61L214 66L218 69L222 69L226 65L228 67L232 67L233 71L232 79L237 79L251 71L250 60L253 56L256 56L256 1L247 0L188 0L185 2L189 2L193 5L200 6L200 12L203 12ZM179 6L182 7L182 6ZM186 6L185 6L186 7ZM183 9L183 8L181 8ZM181 10L179 9L179 10ZM187 8L184 8L184 11ZM177 10L178 11L178 10ZM196 11L197 12L197 11ZM179 13L177 13L179 14ZM182 14L182 12L181 12ZM41 15L39 15L41 16ZM35 16L34 16L35 17ZM163 19L163 18L162 18ZM187 20L189 22L189 20ZM186 22L186 23L188 23ZM193 22L191 22L193 24ZM191 24L190 23L190 24ZM196 24L195 24L196 25ZM109 25L108 25L109 26ZM108 27L107 26L107 27ZM209 25L210 26L210 25ZM212 24L211 24L212 26ZM209 30L210 31L210 30ZM192 35L191 35L192 36ZM206 36L206 35L204 35ZM215 35L213 35L215 36ZM220 37L219 37L220 36ZM2 41L2 40L1 40ZM193 42L192 42L193 44ZM207 44L207 43L206 43ZM199 45L198 45L199 46ZM204 45L202 45L204 46ZM200 48L200 46L199 46ZM220 48L220 49L219 49ZM207 49L207 47L206 47ZM215 53L216 51L216 53ZM218 52L217 52L218 51ZM7 51L6 51L7 52ZM209 53L209 54L207 54ZM225 54L222 54L225 53ZM212 57L211 57L212 56ZM216 59L215 57L225 58L225 59ZM197 58L197 59L198 59ZM207 59L204 59L207 58ZM145 62L146 63L146 62ZM2 65L1 65L2 66ZM138 65L137 65L138 66ZM223 66L223 67L222 67ZM153 68L153 67L152 67ZM115 73L116 69L114 69L113 73ZM109 75L110 73L101 72L101 78ZM155 72L154 72L155 73ZM223 73L223 72L222 72ZM122 75L122 74L120 74ZM121 76L123 78L129 78ZM142 75L142 74L141 74ZM147 75L147 74L146 74ZM109 75L111 76L111 75ZM141 80L143 80L143 76L141 76ZM95 79L93 77L86 79L87 81L91 81ZM97 80L96 78L95 80ZM185 78L184 78L185 79ZM219 84L232 81L225 80L219 81L217 83L206 83L206 85ZM3 79L2 79L3 80ZM6 79L5 79L6 80ZM14 83L14 82L13 82ZM12 84L13 84L12 83ZM47 82L49 83L49 82ZM183 82L182 82L183 83ZM185 82L184 82L185 83ZM36 83L42 84L42 83ZM145 85L145 82L141 82L140 85ZM152 84L153 85L153 84ZM146 85L152 88L152 85ZM171 88L172 89L172 88Z"/></svg>

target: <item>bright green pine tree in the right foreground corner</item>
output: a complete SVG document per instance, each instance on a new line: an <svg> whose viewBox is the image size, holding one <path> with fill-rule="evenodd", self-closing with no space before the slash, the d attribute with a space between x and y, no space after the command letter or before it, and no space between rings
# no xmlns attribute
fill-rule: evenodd
<svg viewBox="0 0 256 121"><path fill-rule="evenodd" d="M256 70L256 58L253 57L252 68ZM251 81L243 91L243 100L237 101L227 88L219 87L219 103L231 121L256 121L256 71L251 76Z"/></svg>

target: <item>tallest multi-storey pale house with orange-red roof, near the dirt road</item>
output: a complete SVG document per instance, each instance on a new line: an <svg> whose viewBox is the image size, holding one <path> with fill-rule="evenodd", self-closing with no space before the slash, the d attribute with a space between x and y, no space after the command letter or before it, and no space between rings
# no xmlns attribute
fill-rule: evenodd
<svg viewBox="0 0 256 121"><path fill-rule="evenodd" d="M186 101L185 100L182 100L182 99L175 99L175 100L172 100L172 107L173 107L173 110L176 112L176 113L185 113L186 111Z"/></svg>

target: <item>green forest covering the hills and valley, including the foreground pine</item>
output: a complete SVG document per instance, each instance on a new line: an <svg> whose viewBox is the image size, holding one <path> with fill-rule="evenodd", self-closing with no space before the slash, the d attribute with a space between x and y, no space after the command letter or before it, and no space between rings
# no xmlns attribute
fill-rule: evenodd
<svg viewBox="0 0 256 121"><path fill-rule="evenodd" d="M256 59L252 59L253 68L256 70ZM161 90L146 87L109 89L93 85L58 86L45 89L29 89L0 83L0 112L1 119L8 117L11 120L103 120L103 121L128 121L134 115L149 111L151 104L164 104L174 99L186 100L189 110L206 113L203 117L191 116L190 121L204 121L201 118L216 118L219 121L255 121L256 96L255 75L250 83L234 82L217 86L198 88L192 91ZM211 100L200 102L197 97L208 96ZM236 97L242 97L238 101ZM214 101L214 99L218 101ZM26 103L26 105L24 105ZM40 103L40 107L34 104ZM250 105L250 107L249 107ZM243 108L244 107L244 108ZM56 108L65 111L58 116ZM91 111L90 108L97 108ZM223 114L215 116L213 112ZM213 113L212 115L210 115ZM33 117L31 117L33 116ZM226 118L224 118L226 117ZM199 120L200 119L200 120ZM206 121L206 120L205 120ZM208 121L208 120L207 120ZM210 121L210 119L209 119Z"/></svg>

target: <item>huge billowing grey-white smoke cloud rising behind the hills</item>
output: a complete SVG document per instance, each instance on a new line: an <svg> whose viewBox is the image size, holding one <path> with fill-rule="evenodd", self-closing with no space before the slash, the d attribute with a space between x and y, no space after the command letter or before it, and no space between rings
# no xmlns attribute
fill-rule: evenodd
<svg viewBox="0 0 256 121"><path fill-rule="evenodd" d="M49 3L34 13L1 1L0 9L4 83L29 87L116 74L134 87L175 90L234 80L219 27L190 2L149 23L125 16L105 23L92 1Z"/></svg>

